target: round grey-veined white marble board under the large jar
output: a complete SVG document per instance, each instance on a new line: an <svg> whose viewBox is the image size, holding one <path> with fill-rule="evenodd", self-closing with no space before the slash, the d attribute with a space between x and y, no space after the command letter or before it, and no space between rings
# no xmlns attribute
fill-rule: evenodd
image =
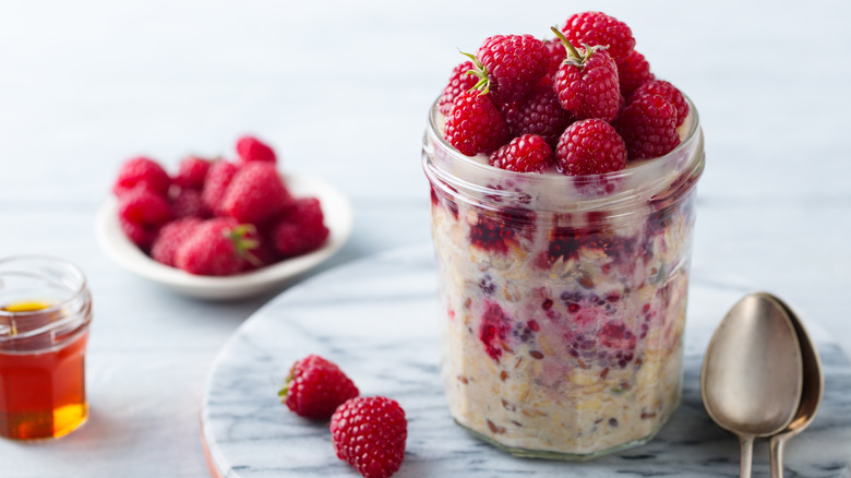
<svg viewBox="0 0 851 478"><path fill-rule="evenodd" d="M439 318L430 247L394 251L320 275L272 300L219 354L201 410L211 474L229 478L358 477L334 455L326 423L278 402L289 366L308 354L337 362L363 395L397 399L408 417L409 477L739 476L739 443L704 410L699 373L706 344L748 289L693 271L683 402L648 444L589 463L516 458L456 426L439 378ZM789 442L788 477L851 476L851 366L840 347L804 318L826 372L813 425ZM754 476L768 476L757 443Z"/></svg>

